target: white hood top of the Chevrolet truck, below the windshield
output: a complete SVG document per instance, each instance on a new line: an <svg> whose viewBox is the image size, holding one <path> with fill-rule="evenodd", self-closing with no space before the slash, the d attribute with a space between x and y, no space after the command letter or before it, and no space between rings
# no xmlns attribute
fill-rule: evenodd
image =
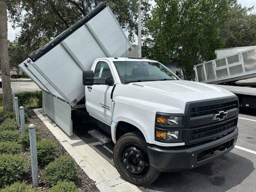
<svg viewBox="0 0 256 192"><path fill-rule="evenodd" d="M186 102L233 96L231 92L214 85L185 80L150 81L130 83L130 86L173 96Z"/></svg>

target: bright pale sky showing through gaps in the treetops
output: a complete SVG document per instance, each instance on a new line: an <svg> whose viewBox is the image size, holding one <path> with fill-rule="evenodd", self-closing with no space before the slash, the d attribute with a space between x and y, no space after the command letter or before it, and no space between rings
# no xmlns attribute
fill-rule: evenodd
<svg viewBox="0 0 256 192"><path fill-rule="evenodd" d="M252 7L254 6L254 12L256 12L256 0L238 0L243 6L246 7ZM150 0L150 3L152 5L155 4L154 0ZM8 39L13 41L15 39L16 34L20 32L20 28L12 28L12 25L10 22L8 22Z"/></svg>

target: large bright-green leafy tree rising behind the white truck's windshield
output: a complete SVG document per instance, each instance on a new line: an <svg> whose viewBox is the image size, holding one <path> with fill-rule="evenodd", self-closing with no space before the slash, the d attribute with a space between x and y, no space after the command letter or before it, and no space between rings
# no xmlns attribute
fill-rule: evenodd
<svg viewBox="0 0 256 192"><path fill-rule="evenodd" d="M220 26L236 0L157 0L146 21L143 55L163 63L177 61L184 79L194 79L193 67L216 57L224 46Z"/></svg>

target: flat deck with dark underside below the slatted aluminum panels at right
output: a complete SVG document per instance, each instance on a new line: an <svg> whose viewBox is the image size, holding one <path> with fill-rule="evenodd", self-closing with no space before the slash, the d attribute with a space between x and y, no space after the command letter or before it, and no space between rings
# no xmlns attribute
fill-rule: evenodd
<svg viewBox="0 0 256 192"><path fill-rule="evenodd" d="M256 88L228 86L228 85L215 85L224 88L238 96L239 104L242 107L256 109Z"/></svg>

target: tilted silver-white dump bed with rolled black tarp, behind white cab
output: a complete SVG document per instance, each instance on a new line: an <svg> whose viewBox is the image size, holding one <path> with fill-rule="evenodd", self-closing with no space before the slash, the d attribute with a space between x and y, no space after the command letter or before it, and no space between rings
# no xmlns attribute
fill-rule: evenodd
<svg viewBox="0 0 256 192"><path fill-rule="evenodd" d="M90 69L96 58L125 57L132 50L108 4L101 2L82 20L29 54L19 67L42 90L73 107L85 96L83 70Z"/></svg>

